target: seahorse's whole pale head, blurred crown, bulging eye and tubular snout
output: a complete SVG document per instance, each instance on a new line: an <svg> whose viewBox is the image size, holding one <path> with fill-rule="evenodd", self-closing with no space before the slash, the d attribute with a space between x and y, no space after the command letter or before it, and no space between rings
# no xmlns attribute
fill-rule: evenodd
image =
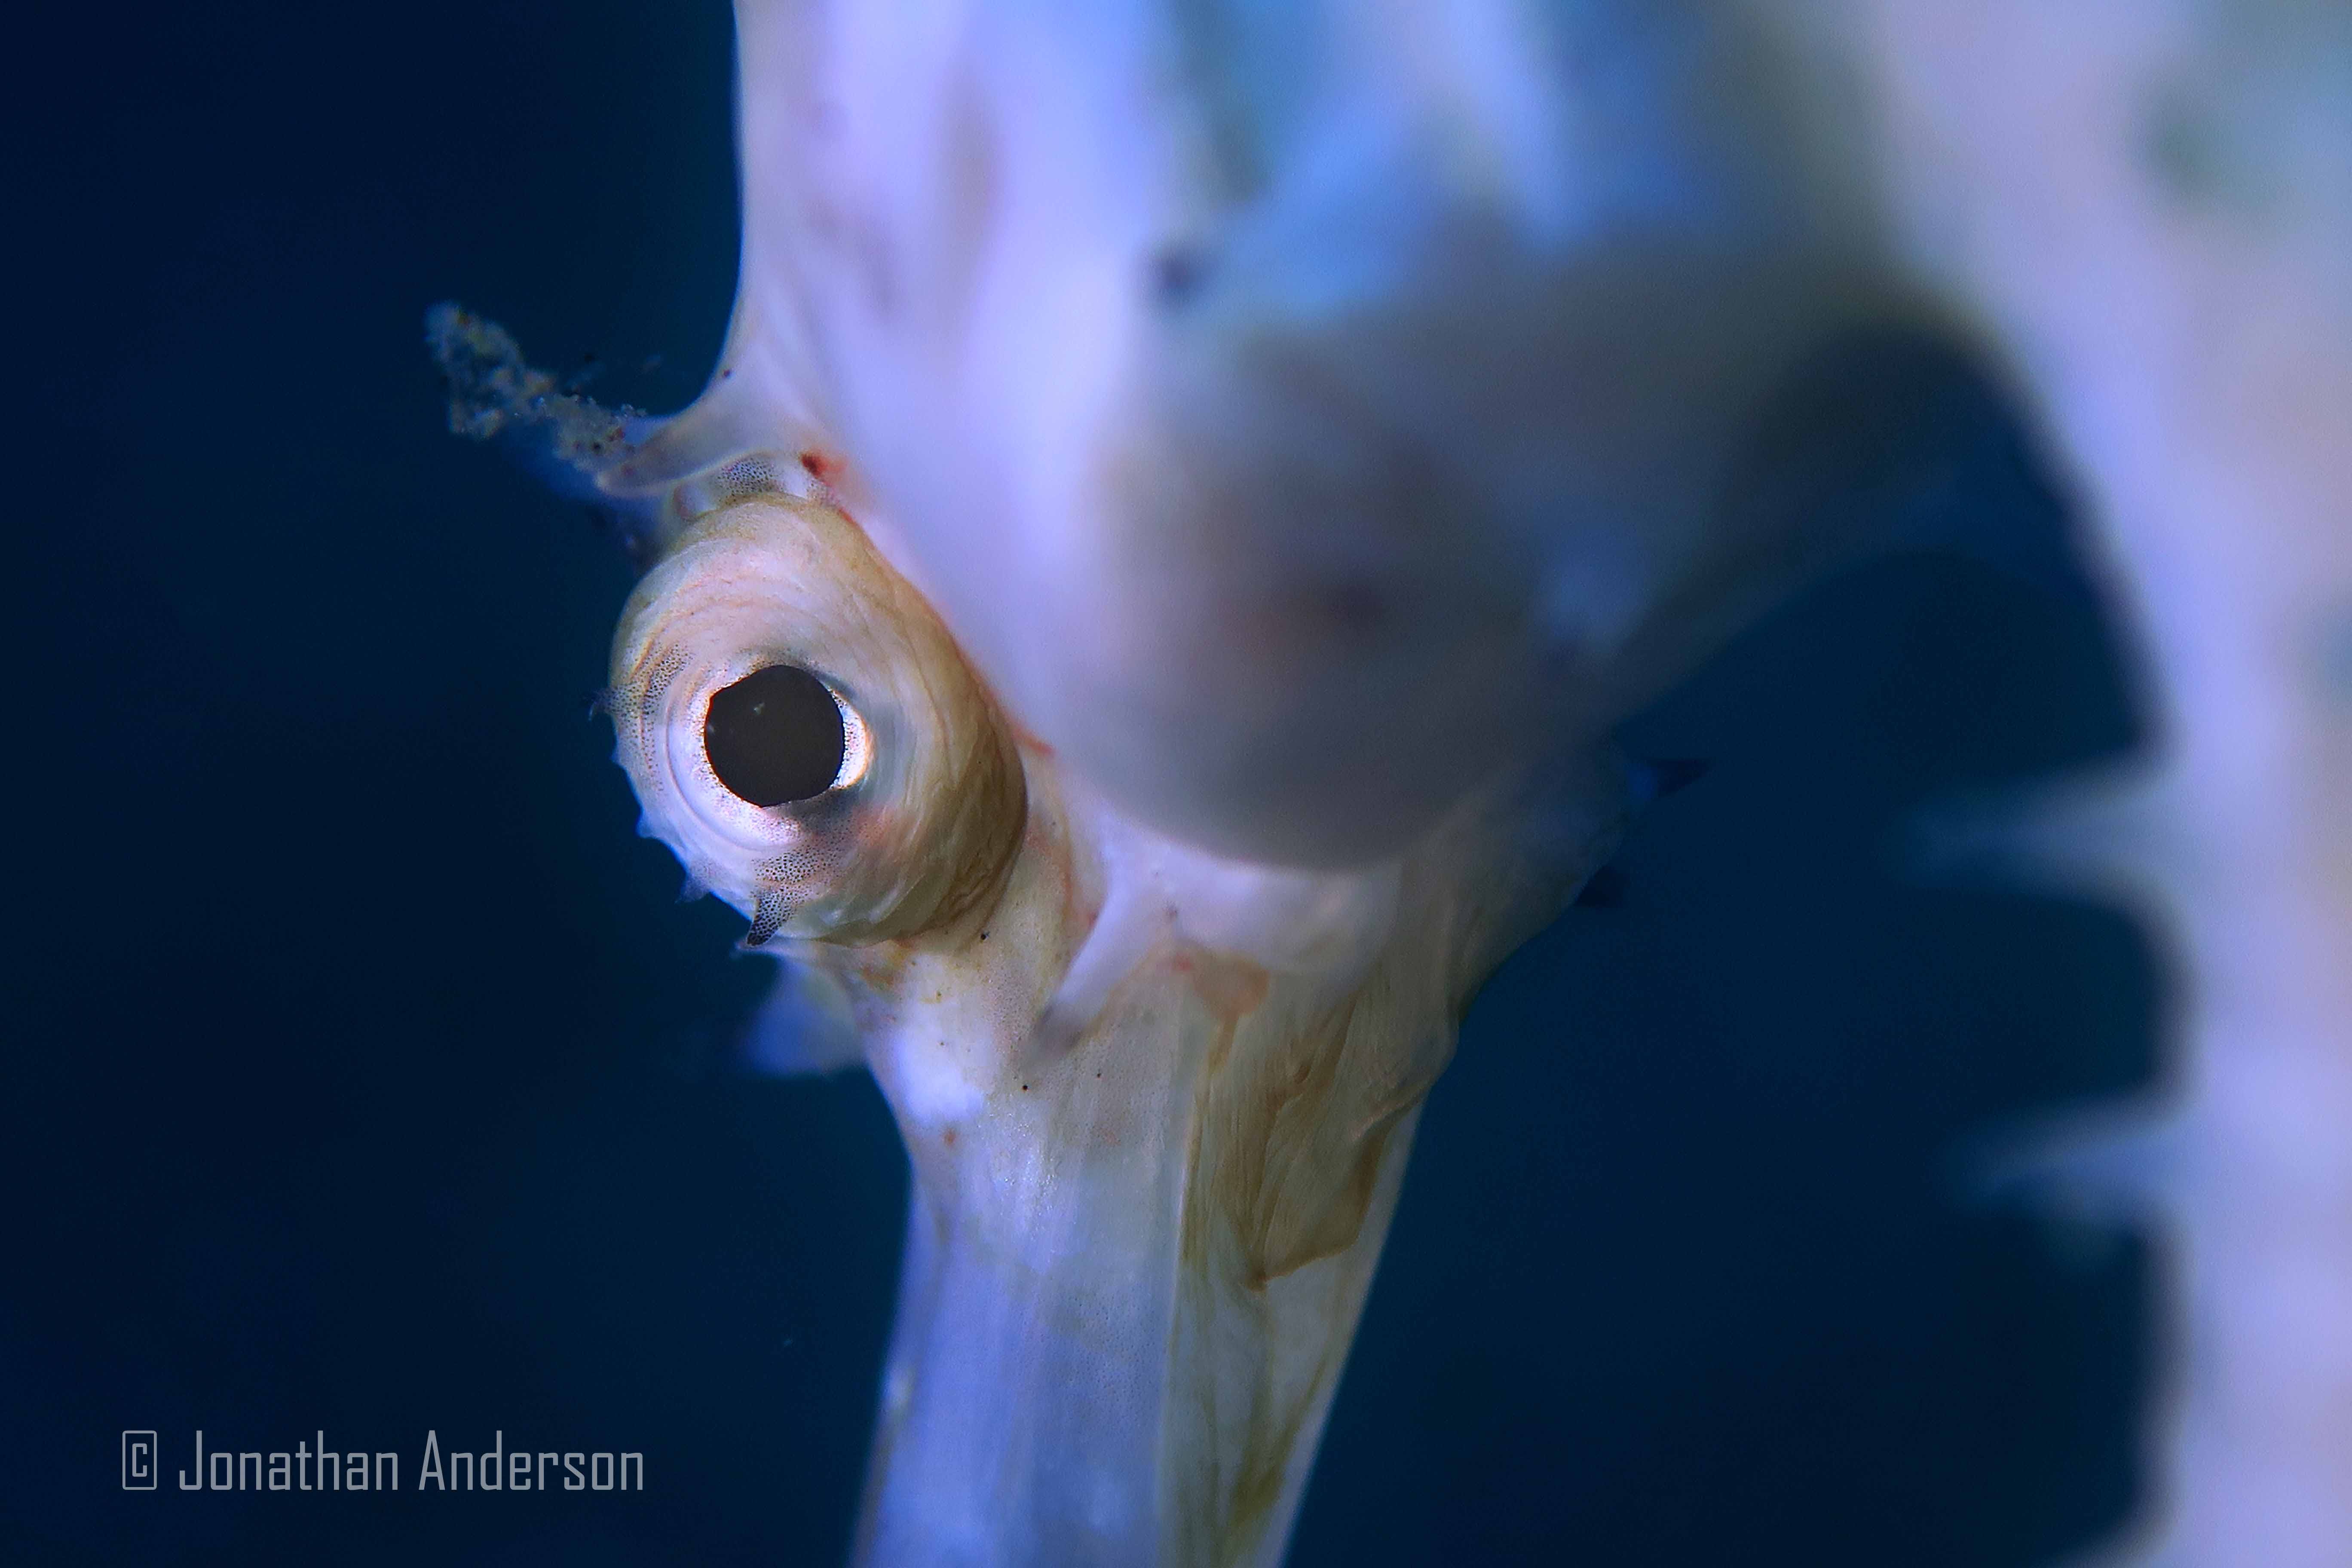
<svg viewBox="0 0 2352 1568"><path fill-rule="evenodd" d="M1757 411L1900 313L1780 12L746 0L706 395L437 320L635 508L644 830L906 1135L866 1561L1279 1559L1599 736L1809 555Z"/></svg>

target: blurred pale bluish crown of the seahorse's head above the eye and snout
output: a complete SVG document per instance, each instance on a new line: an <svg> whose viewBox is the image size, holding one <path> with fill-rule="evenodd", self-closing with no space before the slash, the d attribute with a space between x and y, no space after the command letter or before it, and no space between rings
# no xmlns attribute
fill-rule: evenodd
<svg viewBox="0 0 2352 1568"><path fill-rule="evenodd" d="M1915 313L1802 0L743 0L722 378L623 487L854 456L1138 820L1402 851L1804 555L1750 425Z"/></svg>

